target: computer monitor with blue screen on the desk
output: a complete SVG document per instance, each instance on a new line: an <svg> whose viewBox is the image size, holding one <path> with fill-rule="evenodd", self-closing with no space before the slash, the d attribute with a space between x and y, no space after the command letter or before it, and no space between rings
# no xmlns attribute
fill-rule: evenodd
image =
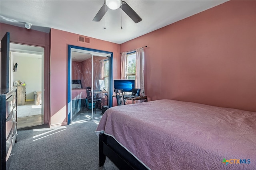
<svg viewBox="0 0 256 170"><path fill-rule="evenodd" d="M135 80L114 80L114 89L123 89L124 92L132 92L135 88Z"/></svg>

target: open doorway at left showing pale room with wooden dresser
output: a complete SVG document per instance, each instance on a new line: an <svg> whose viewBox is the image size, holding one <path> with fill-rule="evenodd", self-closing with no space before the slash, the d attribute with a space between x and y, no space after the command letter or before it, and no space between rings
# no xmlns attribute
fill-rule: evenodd
<svg viewBox="0 0 256 170"><path fill-rule="evenodd" d="M10 43L10 87L17 87L18 128L44 124L44 48Z"/></svg>

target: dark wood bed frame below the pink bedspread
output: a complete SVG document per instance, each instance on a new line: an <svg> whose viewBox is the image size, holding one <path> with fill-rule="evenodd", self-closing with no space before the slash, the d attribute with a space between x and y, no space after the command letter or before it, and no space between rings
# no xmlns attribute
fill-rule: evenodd
<svg viewBox="0 0 256 170"><path fill-rule="evenodd" d="M148 170L113 137L100 133L99 139L99 166L104 165L107 156L120 170Z"/></svg>

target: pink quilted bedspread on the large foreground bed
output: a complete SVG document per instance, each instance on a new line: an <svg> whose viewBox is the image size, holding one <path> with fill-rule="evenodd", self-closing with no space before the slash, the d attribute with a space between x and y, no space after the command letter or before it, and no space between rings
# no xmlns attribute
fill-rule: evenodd
<svg viewBox="0 0 256 170"><path fill-rule="evenodd" d="M255 112L156 100L111 107L100 132L154 170L256 169Z"/></svg>

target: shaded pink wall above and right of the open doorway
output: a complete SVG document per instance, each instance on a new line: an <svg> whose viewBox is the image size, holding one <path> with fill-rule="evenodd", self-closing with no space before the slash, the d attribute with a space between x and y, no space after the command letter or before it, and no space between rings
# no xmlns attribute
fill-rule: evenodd
<svg viewBox="0 0 256 170"><path fill-rule="evenodd" d="M25 27L0 23L0 37L10 32L10 42L44 47L44 123L49 121L50 113L50 34Z"/></svg>

